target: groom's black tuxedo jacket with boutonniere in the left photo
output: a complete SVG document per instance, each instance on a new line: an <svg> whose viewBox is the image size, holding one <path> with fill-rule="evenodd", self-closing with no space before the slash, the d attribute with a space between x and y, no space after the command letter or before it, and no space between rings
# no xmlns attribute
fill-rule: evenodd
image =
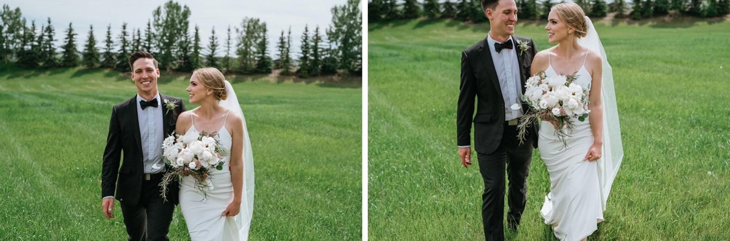
<svg viewBox="0 0 730 241"><path fill-rule="evenodd" d="M162 126L165 135L163 138L166 138L175 130L177 116L185 111L185 103L180 98L168 95L160 94L160 98L161 106L157 108L162 108ZM104 149L104 160L101 166L101 197L114 196L119 202L131 206L137 206L139 202L142 175L145 170L142 162L144 157L142 156L142 141L139 137L136 100L135 95L112 108L107 147ZM165 100L177 101L177 107L167 111ZM122 159L120 159L120 152L123 152ZM170 183L168 189L168 200L177 204L177 180Z"/></svg>

